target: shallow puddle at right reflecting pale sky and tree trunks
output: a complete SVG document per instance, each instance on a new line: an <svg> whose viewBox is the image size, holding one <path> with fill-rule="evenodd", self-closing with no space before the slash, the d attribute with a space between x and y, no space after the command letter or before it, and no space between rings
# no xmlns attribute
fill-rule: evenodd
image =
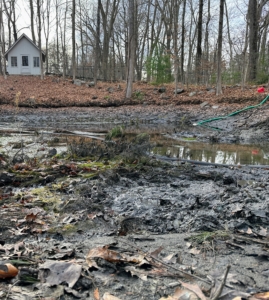
<svg viewBox="0 0 269 300"><path fill-rule="evenodd" d="M199 142L178 142L156 146L154 154L165 155L174 158L198 160L219 164L269 164L269 145L231 145L231 144L207 144Z"/></svg>

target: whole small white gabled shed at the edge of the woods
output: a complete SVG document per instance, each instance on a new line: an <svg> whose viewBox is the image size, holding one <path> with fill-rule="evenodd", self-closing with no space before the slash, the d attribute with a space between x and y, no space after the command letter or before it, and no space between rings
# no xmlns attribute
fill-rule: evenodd
<svg viewBox="0 0 269 300"><path fill-rule="evenodd" d="M7 72L10 75L40 75L39 48L26 35L22 34L5 53ZM42 52L45 62L45 54Z"/></svg>

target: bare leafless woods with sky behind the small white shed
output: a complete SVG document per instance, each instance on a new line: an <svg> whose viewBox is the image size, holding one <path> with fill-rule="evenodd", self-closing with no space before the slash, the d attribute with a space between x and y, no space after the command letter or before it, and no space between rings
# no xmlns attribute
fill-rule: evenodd
<svg viewBox="0 0 269 300"><path fill-rule="evenodd" d="M2 58L28 30L46 53L44 70L63 77L216 85L217 93L221 84L268 81L268 0L1 0L0 18Z"/></svg>

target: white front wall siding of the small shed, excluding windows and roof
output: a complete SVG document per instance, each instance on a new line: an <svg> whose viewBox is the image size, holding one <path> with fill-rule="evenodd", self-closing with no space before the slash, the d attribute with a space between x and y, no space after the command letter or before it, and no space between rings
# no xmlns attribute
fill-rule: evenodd
<svg viewBox="0 0 269 300"><path fill-rule="evenodd" d="M17 67L11 66L11 57L17 57ZM22 67L22 56L28 56L28 68ZM25 37L14 46L8 53L7 71L11 75L40 75L40 59L39 67L34 67L34 57L39 57L38 49L32 45Z"/></svg>

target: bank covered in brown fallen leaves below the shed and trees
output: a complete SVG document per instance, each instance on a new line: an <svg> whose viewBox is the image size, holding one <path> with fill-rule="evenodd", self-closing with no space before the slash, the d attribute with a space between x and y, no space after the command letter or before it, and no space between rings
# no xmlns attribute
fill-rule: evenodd
<svg viewBox="0 0 269 300"><path fill-rule="evenodd" d="M79 83L80 84L80 83ZM163 92L162 88L165 88ZM257 86L224 86L223 95L216 96L214 86L180 87L183 92L175 95L173 84L155 86L145 82L134 83L132 99L125 98L126 82L89 82L74 84L71 79L47 76L41 80L36 76L8 76L0 78L0 104L20 107L70 107L70 106L121 106L131 105L210 105L248 104L263 99Z"/></svg>

